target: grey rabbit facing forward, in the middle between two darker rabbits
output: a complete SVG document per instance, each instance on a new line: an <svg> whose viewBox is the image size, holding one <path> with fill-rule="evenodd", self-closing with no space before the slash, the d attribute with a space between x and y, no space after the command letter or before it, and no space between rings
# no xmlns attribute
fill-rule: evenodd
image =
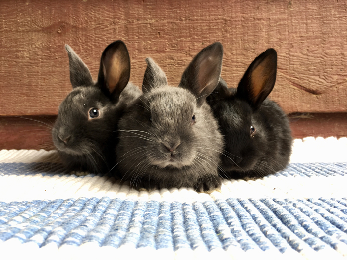
<svg viewBox="0 0 347 260"><path fill-rule="evenodd" d="M169 86L165 73L147 58L143 96L119 121L118 170L135 188L221 185L218 176L222 136L206 97L218 84L223 47L214 43L199 52Z"/></svg>

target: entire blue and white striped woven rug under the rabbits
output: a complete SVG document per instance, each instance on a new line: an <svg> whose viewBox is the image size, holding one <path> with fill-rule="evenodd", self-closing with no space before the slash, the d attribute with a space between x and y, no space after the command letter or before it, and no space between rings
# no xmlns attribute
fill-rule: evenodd
<svg viewBox="0 0 347 260"><path fill-rule="evenodd" d="M295 140L288 168L192 189L67 173L54 151L0 151L0 259L345 259L347 138Z"/></svg>

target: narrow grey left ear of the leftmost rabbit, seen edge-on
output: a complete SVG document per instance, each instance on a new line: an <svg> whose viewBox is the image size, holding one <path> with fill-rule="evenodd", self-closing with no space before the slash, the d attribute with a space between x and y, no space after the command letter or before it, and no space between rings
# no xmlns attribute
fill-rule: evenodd
<svg viewBox="0 0 347 260"><path fill-rule="evenodd" d="M83 63L81 58L67 44L65 45L65 49L69 55L70 81L72 88L93 85L92 75L86 64Z"/></svg>

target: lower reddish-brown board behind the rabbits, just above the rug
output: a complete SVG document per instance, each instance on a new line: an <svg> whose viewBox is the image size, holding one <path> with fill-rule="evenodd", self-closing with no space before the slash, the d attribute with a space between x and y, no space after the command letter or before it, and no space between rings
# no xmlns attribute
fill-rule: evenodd
<svg viewBox="0 0 347 260"><path fill-rule="evenodd" d="M1 149L53 150L51 130L56 116L0 117ZM347 137L347 113L289 115L294 138Z"/></svg>

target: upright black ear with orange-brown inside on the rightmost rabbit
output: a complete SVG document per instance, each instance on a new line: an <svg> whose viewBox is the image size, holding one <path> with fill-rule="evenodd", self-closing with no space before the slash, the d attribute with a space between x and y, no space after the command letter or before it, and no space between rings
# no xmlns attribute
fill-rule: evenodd
<svg viewBox="0 0 347 260"><path fill-rule="evenodd" d="M274 88L277 53L268 49L249 65L237 88L237 95L257 109Z"/></svg>

